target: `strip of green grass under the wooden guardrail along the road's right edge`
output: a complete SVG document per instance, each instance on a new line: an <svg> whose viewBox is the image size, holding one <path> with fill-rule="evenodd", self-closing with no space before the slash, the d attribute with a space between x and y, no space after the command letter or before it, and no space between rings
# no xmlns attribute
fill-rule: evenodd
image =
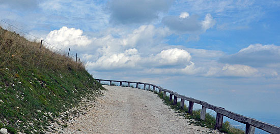
<svg viewBox="0 0 280 134"><path fill-rule="evenodd" d="M172 109L174 109L177 113L180 113L181 116L184 116L185 118L188 119L193 119L195 121L190 121L189 123L195 124L195 125L200 125L202 127L207 127L207 128L215 128L215 122L216 122L216 117L215 115L211 114L211 113L206 113L205 116L205 120L201 120L200 119L200 113L201 113L201 109L196 109L192 111L192 114L187 113L188 112L188 108L186 105L184 105L184 108L181 109L180 108L180 102L179 99L177 101L177 105L173 105L173 100L169 101L169 96L165 96L163 97L163 93L159 93L157 91L155 91L156 94L158 94L158 96L160 98L162 98L164 100L164 103L168 106L170 106ZM245 133L243 130L232 127L230 125L230 122L226 121L223 122L222 124L222 128L219 129L219 131L221 132L225 132L225 133L230 133L230 134L240 134L240 133Z"/></svg>

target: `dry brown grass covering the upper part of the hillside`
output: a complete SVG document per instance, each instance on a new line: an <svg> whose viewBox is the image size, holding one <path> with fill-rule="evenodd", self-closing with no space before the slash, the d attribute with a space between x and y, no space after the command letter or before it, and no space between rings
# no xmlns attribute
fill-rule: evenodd
<svg viewBox="0 0 280 134"><path fill-rule="evenodd" d="M24 66L36 66L43 69L55 70L85 70L85 64L76 62L67 57L65 53L50 50L44 46L40 49L40 43L31 42L15 32L0 27L0 68L13 67L19 62Z"/></svg>

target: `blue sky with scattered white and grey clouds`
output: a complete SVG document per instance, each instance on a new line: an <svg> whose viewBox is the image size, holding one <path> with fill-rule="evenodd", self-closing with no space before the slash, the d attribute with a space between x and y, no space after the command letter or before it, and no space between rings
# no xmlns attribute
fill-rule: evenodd
<svg viewBox="0 0 280 134"><path fill-rule="evenodd" d="M0 9L1 20L78 53L94 78L279 117L280 1L0 0Z"/></svg>

